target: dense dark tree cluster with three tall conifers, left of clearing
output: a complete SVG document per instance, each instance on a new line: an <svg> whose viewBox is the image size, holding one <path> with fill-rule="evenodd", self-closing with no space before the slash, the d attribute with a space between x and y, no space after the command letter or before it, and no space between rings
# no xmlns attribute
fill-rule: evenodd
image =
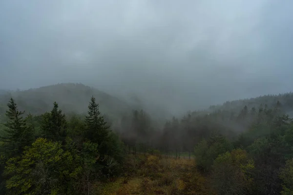
<svg viewBox="0 0 293 195"><path fill-rule="evenodd" d="M1 131L1 194L90 194L97 180L117 174L122 142L109 130L92 97L87 116L66 120L54 102L41 116L8 103Z"/></svg>

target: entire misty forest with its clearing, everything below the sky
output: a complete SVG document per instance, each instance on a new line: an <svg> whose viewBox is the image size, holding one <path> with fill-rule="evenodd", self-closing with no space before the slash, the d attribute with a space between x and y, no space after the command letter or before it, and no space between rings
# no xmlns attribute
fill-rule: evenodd
<svg viewBox="0 0 293 195"><path fill-rule="evenodd" d="M91 90L81 112L31 93L0 99L1 195L293 194L293 93L167 120L123 102L105 115Z"/></svg>

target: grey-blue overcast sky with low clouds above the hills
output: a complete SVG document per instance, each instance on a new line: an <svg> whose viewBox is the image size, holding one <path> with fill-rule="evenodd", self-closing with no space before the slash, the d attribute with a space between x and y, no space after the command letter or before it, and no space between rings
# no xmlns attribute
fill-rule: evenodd
<svg viewBox="0 0 293 195"><path fill-rule="evenodd" d="M173 111L293 91L293 1L0 0L0 88L60 82Z"/></svg>

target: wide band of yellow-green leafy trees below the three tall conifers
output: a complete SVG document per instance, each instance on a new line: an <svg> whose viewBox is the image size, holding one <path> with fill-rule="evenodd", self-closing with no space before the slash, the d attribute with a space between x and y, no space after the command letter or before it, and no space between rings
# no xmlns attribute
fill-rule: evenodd
<svg viewBox="0 0 293 195"><path fill-rule="evenodd" d="M38 138L23 155L10 158L4 175L12 194L80 194L97 177L98 145L84 142L81 151L70 138L60 142Z"/></svg>

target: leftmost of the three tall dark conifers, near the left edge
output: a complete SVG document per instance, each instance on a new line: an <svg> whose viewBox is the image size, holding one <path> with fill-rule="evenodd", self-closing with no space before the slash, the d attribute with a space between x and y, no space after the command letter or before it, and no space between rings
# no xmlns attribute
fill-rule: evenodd
<svg viewBox="0 0 293 195"><path fill-rule="evenodd" d="M24 146L32 143L33 132L27 127L25 120L21 116L24 112L18 110L13 98L10 98L7 106L9 109L5 115L8 121L4 123L6 129L4 129L4 134L1 139L14 147L14 152L21 153Z"/></svg>

